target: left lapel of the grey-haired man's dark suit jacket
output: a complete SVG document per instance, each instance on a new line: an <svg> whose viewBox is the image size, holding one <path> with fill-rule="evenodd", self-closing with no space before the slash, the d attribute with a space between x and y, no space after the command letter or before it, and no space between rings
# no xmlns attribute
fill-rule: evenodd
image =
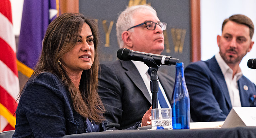
<svg viewBox="0 0 256 138"><path fill-rule="evenodd" d="M152 104L152 99L149 95L148 89L135 65L131 61L120 60L120 62L122 67L127 70L126 74L130 80L134 83L135 86L139 88L147 100Z"/></svg>

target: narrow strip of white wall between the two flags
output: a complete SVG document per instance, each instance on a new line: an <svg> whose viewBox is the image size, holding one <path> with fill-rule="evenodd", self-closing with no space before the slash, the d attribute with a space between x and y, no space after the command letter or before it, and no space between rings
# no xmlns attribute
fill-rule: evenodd
<svg viewBox="0 0 256 138"><path fill-rule="evenodd" d="M13 16L13 31L15 35L19 35L24 0L10 0L10 1L11 1L12 16Z"/></svg>

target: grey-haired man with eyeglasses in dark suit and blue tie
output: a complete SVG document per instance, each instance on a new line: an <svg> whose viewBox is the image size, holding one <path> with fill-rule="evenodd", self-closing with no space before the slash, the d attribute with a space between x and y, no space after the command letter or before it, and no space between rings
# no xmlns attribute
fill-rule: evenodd
<svg viewBox="0 0 256 138"><path fill-rule="evenodd" d="M166 23L151 6L128 7L119 15L116 29L120 48L154 54L164 50ZM174 79L160 71L158 79L158 97L162 97L158 107L170 108ZM123 60L101 64L98 93L106 109L107 130L138 126L152 105L148 66Z"/></svg>

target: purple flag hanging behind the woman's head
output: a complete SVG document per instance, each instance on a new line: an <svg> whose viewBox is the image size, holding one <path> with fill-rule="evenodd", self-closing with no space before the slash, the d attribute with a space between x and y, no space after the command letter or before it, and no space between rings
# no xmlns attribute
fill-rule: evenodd
<svg viewBox="0 0 256 138"><path fill-rule="evenodd" d="M56 2L58 4L58 0L24 0L17 58L31 69L41 54L46 29L58 13Z"/></svg>

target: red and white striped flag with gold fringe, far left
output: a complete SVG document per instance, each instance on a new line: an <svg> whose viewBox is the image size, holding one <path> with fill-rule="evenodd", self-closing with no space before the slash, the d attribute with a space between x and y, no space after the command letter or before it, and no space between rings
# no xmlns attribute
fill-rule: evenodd
<svg viewBox="0 0 256 138"><path fill-rule="evenodd" d="M18 105L16 103L18 92L19 80L11 2L0 0L0 132L14 130L13 114Z"/></svg>

